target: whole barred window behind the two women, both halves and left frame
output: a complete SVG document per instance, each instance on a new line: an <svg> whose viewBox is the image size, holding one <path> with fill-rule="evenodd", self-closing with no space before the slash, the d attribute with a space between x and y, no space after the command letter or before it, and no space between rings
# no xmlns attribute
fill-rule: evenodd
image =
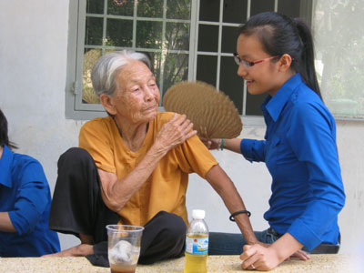
<svg viewBox="0 0 364 273"><path fill-rule="evenodd" d="M263 96L250 96L232 54L238 27L250 15L278 11L310 18L310 1L78 0L70 1L66 116L105 116L90 73L108 51L146 53L161 96L174 84L200 80L216 86L243 116L261 116ZM162 99L160 100L162 102ZM160 105L162 106L162 105Z"/></svg>

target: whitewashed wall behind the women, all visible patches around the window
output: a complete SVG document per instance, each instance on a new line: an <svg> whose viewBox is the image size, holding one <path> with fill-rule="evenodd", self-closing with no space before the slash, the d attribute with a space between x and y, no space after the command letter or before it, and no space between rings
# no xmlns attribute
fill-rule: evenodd
<svg viewBox="0 0 364 273"><path fill-rule="evenodd" d="M18 152L37 158L53 191L56 161L77 145L82 122L65 118L68 1L0 1L0 107L9 122L10 138ZM244 137L262 138L264 126L245 126ZM339 215L341 252L359 248L364 227L364 122L338 122L338 146L347 204ZM233 179L257 230L267 227L270 177L264 164L250 164L229 151L214 155ZM197 176L191 176L187 208L207 210L211 230L238 232L217 194ZM78 240L61 235L62 248Z"/></svg>

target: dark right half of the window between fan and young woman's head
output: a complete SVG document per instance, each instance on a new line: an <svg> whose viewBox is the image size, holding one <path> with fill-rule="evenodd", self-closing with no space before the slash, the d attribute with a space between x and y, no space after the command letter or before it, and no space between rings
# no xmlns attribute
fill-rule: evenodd
<svg viewBox="0 0 364 273"><path fill-rule="evenodd" d="M260 105L266 95L251 96L238 66L236 52L238 28L248 17L278 11L292 17L310 17L310 1L291 0L200 0L197 18L197 72L193 79L217 86L229 96L243 116L262 116ZM195 75L194 75L195 76Z"/></svg>

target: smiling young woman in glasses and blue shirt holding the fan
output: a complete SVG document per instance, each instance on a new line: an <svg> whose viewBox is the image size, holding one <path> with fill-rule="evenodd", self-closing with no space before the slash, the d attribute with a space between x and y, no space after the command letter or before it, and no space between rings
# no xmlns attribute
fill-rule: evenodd
<svg viewBox="0 0 364 273"><path fill-rule="evenodd" d="M269 270L295 254L337 253L338 214L345 203L336 125L322 101L310 30L298 19L268 12L240 28L235 60L252 95L267 94L261 106L264 140L213 139L207 147L265 162L272 176L269 228L256 232L269 245L245 245L242 268Z"/></svg>

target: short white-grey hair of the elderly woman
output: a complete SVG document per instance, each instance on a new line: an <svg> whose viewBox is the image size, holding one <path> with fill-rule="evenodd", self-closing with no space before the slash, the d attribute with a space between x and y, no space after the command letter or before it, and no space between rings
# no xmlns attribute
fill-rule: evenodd
<svg viewBox="0 0 364 273"><path fill-rule="evenodd" d="M116 82L118 72L133 60L143 62L151 69L150 60L143 53L122 50L101 56L96 61L91 73L92 86L94 86L96 95L98 97L102 94L114 96L119 87Z"/></svg>

